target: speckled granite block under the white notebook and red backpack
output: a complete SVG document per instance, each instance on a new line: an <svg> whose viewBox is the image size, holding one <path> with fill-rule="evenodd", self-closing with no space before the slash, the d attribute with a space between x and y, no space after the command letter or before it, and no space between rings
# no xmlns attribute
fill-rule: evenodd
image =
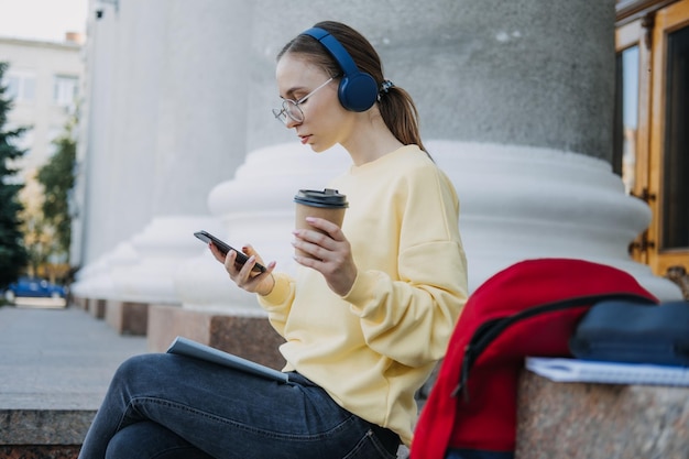
<svg viewBox="0 0 689 459"><path fill-rule="evenodd" d="M689 387L520 379L517 459L689 458Z"/></svg>

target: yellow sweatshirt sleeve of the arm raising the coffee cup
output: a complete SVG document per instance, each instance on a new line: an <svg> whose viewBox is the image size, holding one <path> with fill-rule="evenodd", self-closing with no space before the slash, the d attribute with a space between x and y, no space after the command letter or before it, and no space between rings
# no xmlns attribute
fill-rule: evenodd
<svg viewBox="0 0 689 459"><path fill-rule="evenodd" d="M343 296L367 343L408 367L445 354L467 300L467 261L457 227L459 203L439 172L415 183L404 201L397 280L360 272ZM429 225L433 222L433 225Z"/></svg>

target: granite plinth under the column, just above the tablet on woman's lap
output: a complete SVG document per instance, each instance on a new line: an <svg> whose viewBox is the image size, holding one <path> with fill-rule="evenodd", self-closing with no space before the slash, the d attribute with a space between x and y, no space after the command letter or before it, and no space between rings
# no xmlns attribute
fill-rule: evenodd
<svg viewBox="0 0 689 459"><path fill-rule="evenodd" d="M277 350L284 340L264 316L240 316L151 305L147 328L149 350L165 352L177 336L275 370L281 370L285 365L285 360Z"/></svg>

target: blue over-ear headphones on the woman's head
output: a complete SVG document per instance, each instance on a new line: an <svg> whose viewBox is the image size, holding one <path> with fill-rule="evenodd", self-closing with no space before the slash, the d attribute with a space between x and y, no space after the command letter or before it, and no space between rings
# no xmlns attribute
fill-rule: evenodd
<svg viewBox="0 0 689 459"><path fill-rule="evenodd" d="M338 98L342 107L350 111L365 111L373 107L378 99L375 79L357 67L354 59L344 50L344 46L330 35L330 32L320 28L308 29L302 32L302 35L309 35L318 40L342 69L344 75L338 87Z"/></svg>

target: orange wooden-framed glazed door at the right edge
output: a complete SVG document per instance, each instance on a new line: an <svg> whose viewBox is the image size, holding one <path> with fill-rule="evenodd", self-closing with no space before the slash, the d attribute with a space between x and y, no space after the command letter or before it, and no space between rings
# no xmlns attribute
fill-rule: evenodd
<svg viewBox="0 0 689 459"><path fill-rule="evenodd" d="M613 170L648 204L632 256L689 270L689 0L619 0Z"/></svg>

